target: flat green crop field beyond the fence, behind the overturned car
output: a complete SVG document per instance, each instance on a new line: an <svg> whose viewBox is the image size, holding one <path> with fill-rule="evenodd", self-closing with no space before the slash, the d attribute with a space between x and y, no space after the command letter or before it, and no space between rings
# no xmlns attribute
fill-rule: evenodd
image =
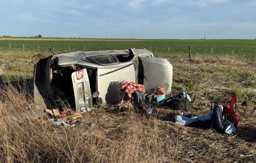
<svg viewBox="0 0 256 163"><path fill-rule="evenodd" d="M256 40L0 38L0 52L31 52L33 54L51 47L56 53L69 50L97 51L146 48L156 56L186 58L189 46L191 46L192 56L229 56L250 61L256 59ZM0 58L4 58L4 56L2 55Z"/></svg>

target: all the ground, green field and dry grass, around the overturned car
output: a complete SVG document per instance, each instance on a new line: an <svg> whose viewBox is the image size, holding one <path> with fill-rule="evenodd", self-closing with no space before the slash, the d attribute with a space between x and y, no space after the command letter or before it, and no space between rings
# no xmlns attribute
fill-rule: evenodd
<svg viewBox="0 0 256 163"><path fill-rule="evenodd" d="M23 51L24 44L24 51ZM236 134L175 124L179 110L158 108L147 117L129 103L83 114L75 128L33 121L47 118L33 102L31 57L55 52L146 48L173 65L172 94L187 92L192 115L206 115L210 101L237 93ZM191 46L191 60L188 47ZM11 47L11 48L10 48ZM170 51L169 51L170 47ZM213 54L212 54L213 51ZM133 40L0 37L1 162L256 162L256 40ZM2 79L1 79L2 77ZM17 84L17 82L19 82ZM18 85L18 86L17 86ZM29 108L33 114L26 109ZM25 113L25 115L23 114ZM19 120L13 117L19 117ZM90 128L97 124L97 128Z"/></svg>

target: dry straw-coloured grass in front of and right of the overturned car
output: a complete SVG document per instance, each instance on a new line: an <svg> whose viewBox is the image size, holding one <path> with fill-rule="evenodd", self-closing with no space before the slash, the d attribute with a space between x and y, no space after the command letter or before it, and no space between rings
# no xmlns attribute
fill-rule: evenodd
<svg viewBox="0 0 256 163"><path fill-rule="evenodd" d="M28 82L6 83L0 89L0 162L256 162L256 99L243 92L255 87L244 89L236 76L255 68L234 63L237 68L223 71L209 61L172 63L173 92L190 91L193 115L207 114L209 101L229 98L229 89L236 84L241 120L235 135L193 127L183 133L174 123L179 111L159 108L156 116L147 117L134 113L127 103L120 112L119 105L93 108L83 114L79 126L56 128L33 120L48 117L33 102L31 86L24 87ZM202 64L207 65L202 69ZM218 72L211 75L211 69ZM94 123L98 127L90 128Z"/></svg>

